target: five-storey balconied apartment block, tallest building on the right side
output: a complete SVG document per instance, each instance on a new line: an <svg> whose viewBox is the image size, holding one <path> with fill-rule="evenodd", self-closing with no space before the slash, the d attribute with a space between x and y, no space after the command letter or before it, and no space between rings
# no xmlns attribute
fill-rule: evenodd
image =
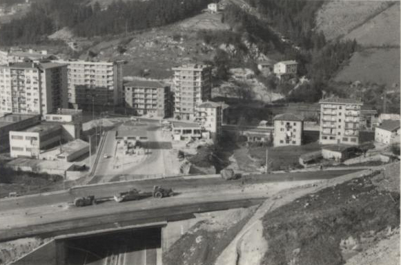
<svg viewBox="0 0 401 265"><path fill-rule="evenodd" d="M351 98L320 100L320 144L358 145L361 107Z"/></svg>

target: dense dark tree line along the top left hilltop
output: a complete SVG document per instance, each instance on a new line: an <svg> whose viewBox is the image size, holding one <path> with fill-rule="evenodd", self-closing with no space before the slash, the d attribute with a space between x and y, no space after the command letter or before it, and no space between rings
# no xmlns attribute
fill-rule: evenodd
<svg viewBox="0 0 401 265"><path fill-rule="evenodd" d="M106 10L81 0L32 3L25 17L0 28L0 45L34 43L63 27L78 36L104 36L159 27L200 12L211 0L114 1Z"/></svg>

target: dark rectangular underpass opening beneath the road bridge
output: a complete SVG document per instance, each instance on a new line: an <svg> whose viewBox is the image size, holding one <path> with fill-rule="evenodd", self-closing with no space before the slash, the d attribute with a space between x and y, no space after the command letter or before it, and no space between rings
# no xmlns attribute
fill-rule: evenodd
<svg viewBox="0 0 401 265"><path fill-rule="evenodd" d="M57 240L66 265L161 265L162 227Z"/></svg>

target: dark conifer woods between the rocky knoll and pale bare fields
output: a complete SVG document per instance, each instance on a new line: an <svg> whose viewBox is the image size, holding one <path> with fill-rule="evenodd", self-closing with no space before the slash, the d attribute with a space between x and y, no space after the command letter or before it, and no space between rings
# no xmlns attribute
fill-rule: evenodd
<svg viewBox="0 0 401 265"><path fill-rule="evenodd" d="M265 54L275 50L282 54L282 60L296 60L300 63L298 73L311 79L311 83L301 85L295 91L291 91L293 86L286 83L278 85L279 92L286 94L286 100L315 102L322 98L323 92L338 93L329 81L351 58L358 43L327 42L322 32L313 31L314 14L322 1L247 1L257 8L263 20L239 6L229 5L224 10L224 22L230 24L237 34L257 43ZM288 37L291 42L280 40L276 32Z"/></svg>

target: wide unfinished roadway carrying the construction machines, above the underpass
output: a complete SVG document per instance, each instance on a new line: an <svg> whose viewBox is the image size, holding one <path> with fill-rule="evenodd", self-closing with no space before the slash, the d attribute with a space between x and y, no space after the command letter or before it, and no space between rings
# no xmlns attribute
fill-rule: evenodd
<svg viewBox="0 0 401 265"><path fill-rule="evenodd" d="M324 171L281 173L268 176L244 177L224 181L220 178L183 178L146 180L139 182L112 182L90 185L50 195L30 195L0 200L0 240L6 241L30 235L62 235L78 231L106 229L131 224L186 219L197 212L217 211L260 203L272 194L315 180L335 178L353 171ZM171 187L171 198L117 203L70 206L74 198L95 195L113 196L117 192L136 188L151 191L153 185Z"/></svg>

